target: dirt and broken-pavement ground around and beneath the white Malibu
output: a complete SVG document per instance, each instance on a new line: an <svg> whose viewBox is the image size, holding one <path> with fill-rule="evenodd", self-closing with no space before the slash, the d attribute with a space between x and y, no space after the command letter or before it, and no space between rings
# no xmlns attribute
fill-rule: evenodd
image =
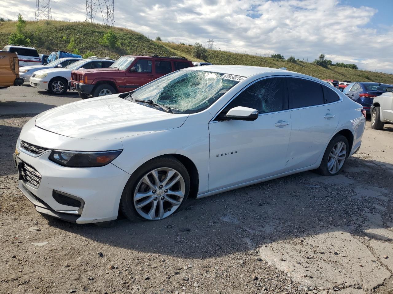
<svg viewBox="0 0 393 294"><path fill-rule="evenodd" d="M339 176L303 172L98 227L44 218L17 189L28 119L0 118L0 293L393 293L393 127L367 124Z"/></svg>

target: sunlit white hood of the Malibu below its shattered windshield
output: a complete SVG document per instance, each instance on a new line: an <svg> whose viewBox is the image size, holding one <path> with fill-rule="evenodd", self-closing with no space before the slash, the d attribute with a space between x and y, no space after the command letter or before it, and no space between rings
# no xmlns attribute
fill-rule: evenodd
<svg viewBox="0 0 393 294"><path fill-rule="evenodd" d="M41 129L83 139L115 139L180 127L188 114L165 113L119 98L90 98L45 111L35 121Z"/></svg>

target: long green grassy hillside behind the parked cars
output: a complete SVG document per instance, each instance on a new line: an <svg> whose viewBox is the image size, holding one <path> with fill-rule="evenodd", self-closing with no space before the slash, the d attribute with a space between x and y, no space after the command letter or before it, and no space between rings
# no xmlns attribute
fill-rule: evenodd
<svg viewBox="0 0 393 294"><path fill-rule="evenodd" d="M8 44L9 35L15 31L16 22L0 23L0 48ZM39 53L50 53L55 50L67 51L67 45L73 38L76 49L82 54L91 51L96 56L118 58L125 54L159 54L163 56L184 56L193 61L201 61L193 57L193 46L167 42L156 42L135 31L111 27L117 35L118 45L115 49L99 44L108 27L86 22L39 21L26 23L26 35ZM248 54L230 53L226 51L208 50L208 61L213 64L239 64L265 67L286 67L290 71L309 74L320 79L369 81L393 84L393 75L362 71L343 67L327 68L316 64L297 61L296 63L269 57Z"/></svg>

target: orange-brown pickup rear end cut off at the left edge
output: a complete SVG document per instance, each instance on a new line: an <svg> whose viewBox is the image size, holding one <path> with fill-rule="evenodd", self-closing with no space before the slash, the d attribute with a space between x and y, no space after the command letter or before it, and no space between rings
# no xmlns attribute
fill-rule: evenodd
<svg viewBox="0 0 393 294"><path fill-rule="evenodd" d="M19 77L18 54L0 51L0 89L23 85Z"/></svg>

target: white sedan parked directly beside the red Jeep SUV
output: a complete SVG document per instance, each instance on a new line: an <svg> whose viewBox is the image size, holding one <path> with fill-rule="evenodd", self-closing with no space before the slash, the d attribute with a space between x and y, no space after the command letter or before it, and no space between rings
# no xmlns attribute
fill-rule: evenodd
<svg viewBox="0 0 393 294"><path fill-rule="evenodd" d="M37 89L47 90L53 94L64 94L67 92L68 80L71 79L73 69L97 69L107 68L114 60L107 59L81 59L66 67L55 67L52 69L41 69L31 75L30 85Z"/></svg>

